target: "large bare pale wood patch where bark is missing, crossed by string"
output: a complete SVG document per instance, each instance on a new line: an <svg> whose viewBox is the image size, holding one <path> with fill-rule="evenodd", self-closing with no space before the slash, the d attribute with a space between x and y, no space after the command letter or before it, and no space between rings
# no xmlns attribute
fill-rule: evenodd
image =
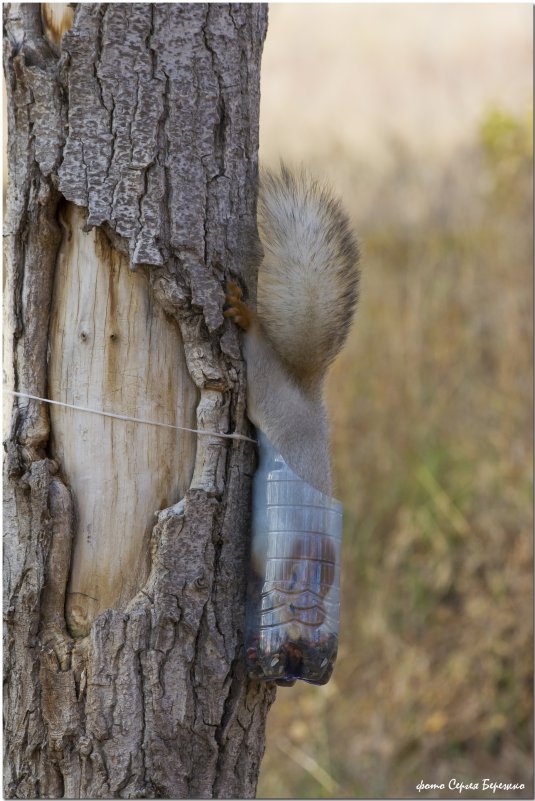
<svg viewBox="0 0 535 801"><path fill-rule="evenodd" d="M194 428L197 391L175 320L153 299L143 272L82 210L61 214L63 239L50 323L54 400ZM76 504L67 622L89 632L98 613L122 609L148 576L155 511L190 485L195 437L52 406L51 453Z"/></svg>

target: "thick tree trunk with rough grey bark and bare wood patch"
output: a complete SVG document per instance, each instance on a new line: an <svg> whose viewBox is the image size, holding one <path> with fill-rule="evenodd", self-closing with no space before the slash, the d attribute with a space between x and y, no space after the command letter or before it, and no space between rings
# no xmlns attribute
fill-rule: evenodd
<svg viewBox="0 0 535 801"><path fill-rule="evenodd" d="M254 284L266 20L78 4L61 39L49 8L5 8L8 387L250 435L222 307ZM253 796L274 693L241 653L254 446L6 407L5 795Z"/></svg>

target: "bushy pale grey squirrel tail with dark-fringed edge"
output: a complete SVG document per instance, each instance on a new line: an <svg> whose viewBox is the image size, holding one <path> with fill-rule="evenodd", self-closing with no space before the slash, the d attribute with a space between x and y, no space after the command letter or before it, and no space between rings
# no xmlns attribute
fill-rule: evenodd
<svg viewBox="0 0 535 801"><path fill-rule="evenodd" d="M358 299L359 248L339 201L304 170L260 178L264 258L257 313L272 346L304 387L321 384Z"/></svg>

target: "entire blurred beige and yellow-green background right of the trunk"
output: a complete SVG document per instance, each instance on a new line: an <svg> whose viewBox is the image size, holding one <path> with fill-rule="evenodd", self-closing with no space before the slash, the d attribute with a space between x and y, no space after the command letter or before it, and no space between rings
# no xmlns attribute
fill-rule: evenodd
<svg viewBox="0 0 535 801"><path fill-rule="evenodd" d="M270 6L261 162L335 187L363 274L340 651L278 690L259 797L533 797L532 129L529 5Z"/></svg>

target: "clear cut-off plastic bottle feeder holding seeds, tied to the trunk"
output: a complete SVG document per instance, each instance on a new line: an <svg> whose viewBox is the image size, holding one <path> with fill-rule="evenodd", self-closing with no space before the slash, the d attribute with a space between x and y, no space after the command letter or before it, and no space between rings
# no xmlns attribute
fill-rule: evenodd
<svg viewBox="0 0 535 801"><path fill-rule="evenodd" d="M258 433L245 652L251 678L325 684L338 648L342 504Z"/></svg>

